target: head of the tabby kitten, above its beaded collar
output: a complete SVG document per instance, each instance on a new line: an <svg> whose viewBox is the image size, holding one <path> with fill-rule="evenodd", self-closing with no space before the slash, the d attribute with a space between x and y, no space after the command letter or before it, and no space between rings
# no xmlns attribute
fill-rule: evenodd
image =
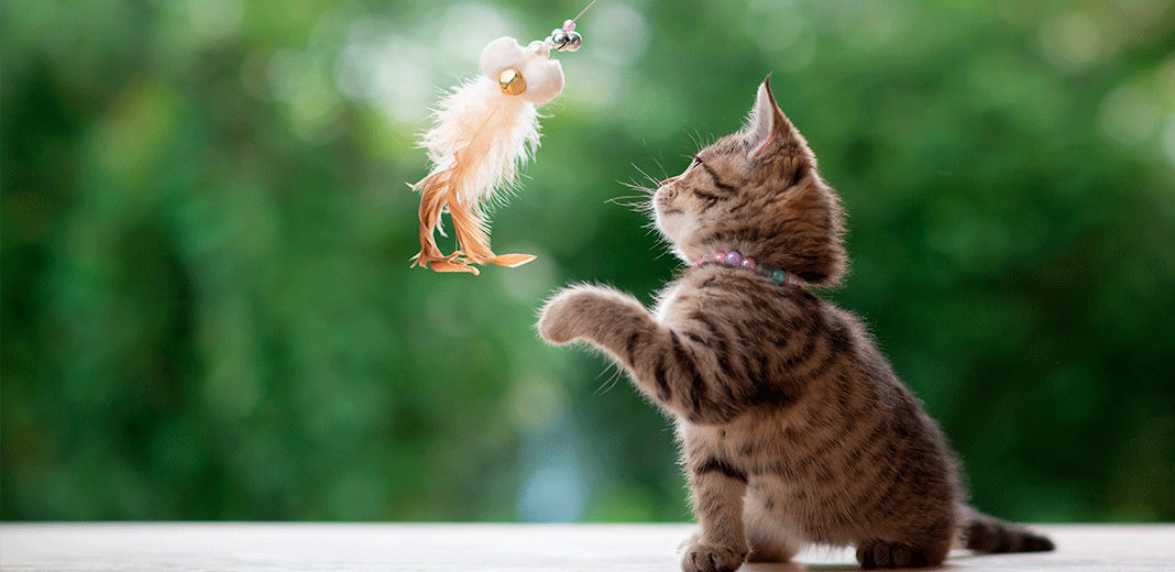
<svg viewBox="0 0 1175 572"><path fill-rule="evenodd" d="M767 81L746 127L662 181L653 210L686 262L737 250L815 285L833 285L845 272L840 201Z"/></svg>

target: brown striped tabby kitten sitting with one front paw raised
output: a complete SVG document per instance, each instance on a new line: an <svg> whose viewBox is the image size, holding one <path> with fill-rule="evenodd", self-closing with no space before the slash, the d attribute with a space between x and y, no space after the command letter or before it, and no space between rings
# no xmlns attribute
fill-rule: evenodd
<svg viewBox="0 0 1175 572"><path fill-rule="evenodd" d="M808 290L846 264L840 202L815 167L764 81L748 125L653 195L658 229L699 261L656 311L577 285L538 322L548 342L605 350L676 418L699 524L683 570L786 561L805 544L854 545L866 568L938 565L955 543L1052 550L964 504L938 424L861 322Z"/></svg>

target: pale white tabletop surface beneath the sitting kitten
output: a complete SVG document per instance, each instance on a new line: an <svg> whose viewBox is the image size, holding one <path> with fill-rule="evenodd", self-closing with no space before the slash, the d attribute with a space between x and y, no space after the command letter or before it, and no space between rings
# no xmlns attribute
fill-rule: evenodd
<svg viewBox="0 0 1175 572"><path fill-rule="evenodd" d="M102 523L0 525L0 570L665 571L690 525ZM1038 526L1055 552L972 556L941 570L1175 571L1175 525ZM858 570L850 550L745 571Z"/></svg>

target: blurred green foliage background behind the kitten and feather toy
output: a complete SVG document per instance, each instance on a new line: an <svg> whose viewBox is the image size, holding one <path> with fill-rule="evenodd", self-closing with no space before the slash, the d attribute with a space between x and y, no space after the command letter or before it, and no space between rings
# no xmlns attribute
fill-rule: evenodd
<svg viewBox="0 0 1175 572"><path fill-rule="evenodd" d="M0 518L687 518L665 419L532 323L651 301L678 263L609 198L773 72L850 213L828 296L974 502L1175 519L1175 6L600 0L494 217L539 258L409 270L427 108L580 7L4 1Z"/></svg>

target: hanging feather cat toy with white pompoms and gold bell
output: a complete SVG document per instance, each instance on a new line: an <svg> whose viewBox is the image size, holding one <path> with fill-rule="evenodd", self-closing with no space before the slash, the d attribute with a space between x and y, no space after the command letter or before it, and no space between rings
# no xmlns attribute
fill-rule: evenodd
<svg viewBox="0 0 1175 572"><path fill-rule="evenodd" d="M538 148L538 107L563 90L563 67L551 51L575 52L583 45L576 20L596 4L551 31L544 40L523 47L502 36L482 51L482 75L443 96L434 109L432 128L419 147L428 149L431 170L416 184L421 193L421 251L412 267L438 272L470 272L470 264L519 267L529 254L496 255L490 250L486 207L504 203L515 188L518 169ZM441 215L452 220L457 250L442 254L434 237L442 236Z"/></svg>

